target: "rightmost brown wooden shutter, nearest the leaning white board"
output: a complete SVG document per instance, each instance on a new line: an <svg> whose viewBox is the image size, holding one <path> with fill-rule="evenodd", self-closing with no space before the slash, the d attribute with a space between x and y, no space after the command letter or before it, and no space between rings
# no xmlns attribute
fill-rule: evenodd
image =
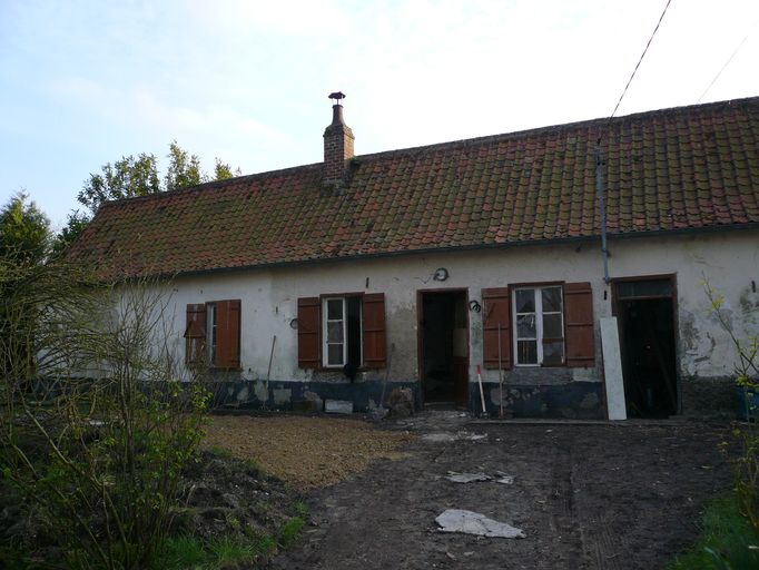
<svg viewBox="0 0 759 570"><path fill-rule="evenodd" d="M595 366L593 293L590 283L564 284L564 323L566 365L574 368Z"/></svg>

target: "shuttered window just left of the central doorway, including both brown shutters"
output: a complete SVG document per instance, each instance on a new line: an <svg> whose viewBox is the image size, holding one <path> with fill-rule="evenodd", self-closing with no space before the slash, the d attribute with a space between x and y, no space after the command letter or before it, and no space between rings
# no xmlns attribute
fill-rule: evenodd
<svg viewBox="0 0 759 570"><path fill-rule="evenodd" d="M382 293L298 299L298 366L336 368L385 365Z"/></svg>

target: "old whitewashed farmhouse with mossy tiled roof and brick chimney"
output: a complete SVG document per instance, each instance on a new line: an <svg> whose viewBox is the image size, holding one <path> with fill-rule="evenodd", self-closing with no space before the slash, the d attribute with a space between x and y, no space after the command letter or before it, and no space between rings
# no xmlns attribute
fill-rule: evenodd
<svg viewBox="0 0 759 570"><path fill-rule="evenodd" d="M170 279L168 341L228 403L720 411L703 284L756 327L759 98L372 155L338 101L324 163L107 203L70 258Z"/></svg>

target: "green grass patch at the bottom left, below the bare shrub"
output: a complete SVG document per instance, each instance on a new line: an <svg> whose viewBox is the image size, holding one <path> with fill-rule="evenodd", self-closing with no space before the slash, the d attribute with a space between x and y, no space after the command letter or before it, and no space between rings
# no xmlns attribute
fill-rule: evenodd
<svg viewBox="0 0 759 570"><path fill-rule="evenodd" d="M258 557L273 553L276 543L272 537L241 540L219 539L204 543L188 534L170 538L152 568L158 570L219 570L254 562Z"/></svg>

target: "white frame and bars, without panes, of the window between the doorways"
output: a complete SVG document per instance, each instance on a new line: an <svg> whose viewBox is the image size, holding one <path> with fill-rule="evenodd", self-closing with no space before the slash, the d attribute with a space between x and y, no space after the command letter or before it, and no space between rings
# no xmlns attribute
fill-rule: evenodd
<svg viewBox="0 0 759 570"><path fill-rule="evenodd" d="M561 309L560 311L543 311L543 295L544 289L556 288L561 294ZM513 354L513 366L520 368L539 368L539 367L564 367L566 366L566 305L565 305L565 293L563 283L524 283L518 285L510 285L510 296L511 296L511 312L512 318L512 354ZM520 291L532 291L533 292L533 303L534 307L532 312L518 312L516 309L516 295ZM519 334L519 317L520 315L535 315L535 337L534 338L523 338ZM543 343L546 341L544 335L544 324L543 317L545 314L558 314L561 316L561 340L558 337L549 337L548 341L561 342L562 347L562 358L560 363L555 364L544 364L544 353ZM520 341L534 341L535 342L535 360L534 363L522 363L520 362L519 342Z"/></svg>

